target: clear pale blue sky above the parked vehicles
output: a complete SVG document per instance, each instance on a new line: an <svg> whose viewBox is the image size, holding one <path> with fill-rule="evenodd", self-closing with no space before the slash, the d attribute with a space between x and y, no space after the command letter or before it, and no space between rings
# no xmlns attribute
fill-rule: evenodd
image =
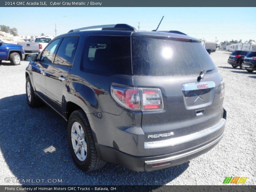
<svg viewBox="0 0 256 192"><path fill-rule="evenodd" d="M140 30L178 30L210 41L256 40L256 7L0 7L0 25L23 35L55 35L71 29L127 23ZM216 38L217 37L217 38Z"/></svg>

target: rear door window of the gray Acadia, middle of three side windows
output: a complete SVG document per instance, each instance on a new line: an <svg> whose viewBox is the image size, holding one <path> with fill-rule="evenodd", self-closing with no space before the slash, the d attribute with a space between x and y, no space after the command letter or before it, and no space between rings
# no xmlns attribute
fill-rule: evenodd
<svg viewBox="0 0 256 192"><path fill-rule="evenodd" d="M60 47L56 53L54 64L72 66L78 37L66 37L62 40Z"/></svg>

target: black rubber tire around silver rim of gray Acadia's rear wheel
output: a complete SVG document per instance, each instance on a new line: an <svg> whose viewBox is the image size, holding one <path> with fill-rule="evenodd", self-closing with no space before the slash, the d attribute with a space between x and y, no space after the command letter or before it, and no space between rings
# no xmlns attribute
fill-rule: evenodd
<svg viewBox="0 0 256 192"><path fill-rule="evenodd" d="M74 148L72 145L71 140L71 132L72 132L72 125L78 122L84 133L85 133L85 142L87 144L87 153L86 158L84 161L78 159L74 152ZM71 153L71 156L75 162L75 164L84 172L92 172L98 169L101 169L105 166L106 162L102 161L97 153L95 148L95 142L92 137L92 129L87 119L86 114L83 110L76 110L71 113L68 119L68 146Z"/></svg>

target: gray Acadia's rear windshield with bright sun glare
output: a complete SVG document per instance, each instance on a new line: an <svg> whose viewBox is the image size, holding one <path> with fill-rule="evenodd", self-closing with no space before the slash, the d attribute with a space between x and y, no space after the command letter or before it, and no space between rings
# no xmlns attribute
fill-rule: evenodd
<svg viewBox="0 0 256 192"><path fill-rule="evenodd" d="M133 75L196 75L204 69L217 72L201 43L132 37Z"/></svg>

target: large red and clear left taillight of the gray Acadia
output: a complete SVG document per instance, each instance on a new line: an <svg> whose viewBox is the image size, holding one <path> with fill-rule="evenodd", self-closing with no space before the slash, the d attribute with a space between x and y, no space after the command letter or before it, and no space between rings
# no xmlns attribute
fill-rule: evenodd
<svg viewBox="0 0 256 192"><path fill-rule="evenodd" d="M130 110L163 109L162 92L157 88L111 86L111 95L118 104Z"/></svg>

